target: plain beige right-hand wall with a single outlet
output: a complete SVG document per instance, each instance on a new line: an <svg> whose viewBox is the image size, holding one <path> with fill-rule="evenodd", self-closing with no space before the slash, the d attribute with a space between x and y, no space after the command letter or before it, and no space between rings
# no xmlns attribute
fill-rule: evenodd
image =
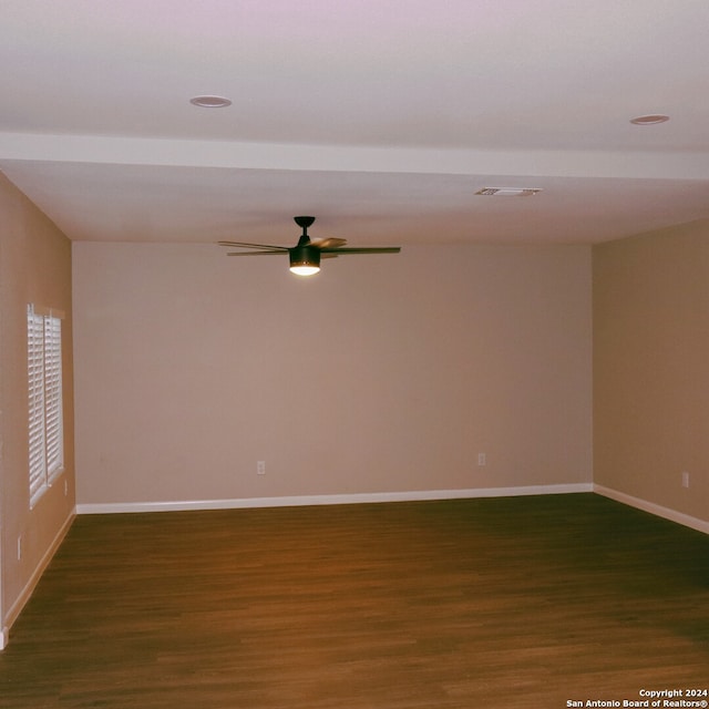
<svg viewBox="0 0 709 709"><path fill-rule="evenodd" d="M709 522L708 352L709 220L594 247L596 484Z"/></svg>

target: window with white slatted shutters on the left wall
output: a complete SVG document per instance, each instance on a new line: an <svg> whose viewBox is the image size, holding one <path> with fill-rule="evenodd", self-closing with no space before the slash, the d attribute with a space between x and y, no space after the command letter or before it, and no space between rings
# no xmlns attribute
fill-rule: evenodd
<svg viewBox="0 0 709 709"><path fill-rule="evenodd" d="M30 506L64 470L62 321L27 309Z"/></svg>

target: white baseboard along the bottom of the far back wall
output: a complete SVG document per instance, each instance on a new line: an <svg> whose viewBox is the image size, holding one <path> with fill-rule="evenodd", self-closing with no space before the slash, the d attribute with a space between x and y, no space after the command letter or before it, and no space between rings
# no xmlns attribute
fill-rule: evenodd
<svg viewBox="0 0 709 709"><path fill-rule="evenodd" d="M415 490L411 492L374 492L339 495L294 495L285 497L242 497L234 500L195 500L176 502L116 502L79 504L76 514L112 514L126 512L176 512L185 510L237 510L243 507L296 507L306 505L349 505L372 502L418 502L467 497L512 497L517 495L554 495L593 492L590 483L567 485L530 485L523 487L483 487L472 490Z"/></svg>

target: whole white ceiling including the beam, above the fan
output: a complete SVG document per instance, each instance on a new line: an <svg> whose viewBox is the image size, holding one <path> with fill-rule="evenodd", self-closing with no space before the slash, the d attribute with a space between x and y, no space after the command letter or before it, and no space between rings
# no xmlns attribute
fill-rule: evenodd
<svg viewBox="0 0 709 709"><path fill-rule="evenodd" d="M350 245L592 243L709 217L707 0L3 0L0 65L0 169L72 239L290 245L312 214Z"/></svg>

